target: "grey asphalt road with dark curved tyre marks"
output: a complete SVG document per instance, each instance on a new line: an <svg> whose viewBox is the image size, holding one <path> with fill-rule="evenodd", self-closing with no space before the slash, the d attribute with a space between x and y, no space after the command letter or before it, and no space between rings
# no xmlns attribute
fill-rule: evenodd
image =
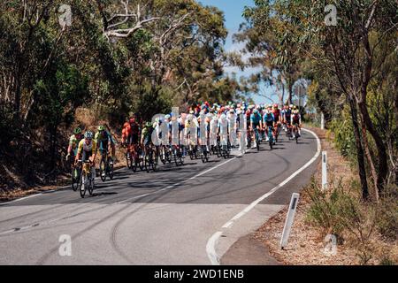
<svg viewBox="0 0 398 283"><path fill-rule="evenodd" d="M94 196L70 188L0 205L0 264L210 264L209 241L221 257L233 242L287 204L310 180L315 164L280 187L233 225L225 224L258 197L314 157L314 135L299 143L285 137L269 150L251 149L230 159L186 159L159 172L126 168L96 179ZM61 256L61 235L71 237L71 256ZM238 259L239 260L239 259ZM244 258L242 258L244 262Z"/></svg>

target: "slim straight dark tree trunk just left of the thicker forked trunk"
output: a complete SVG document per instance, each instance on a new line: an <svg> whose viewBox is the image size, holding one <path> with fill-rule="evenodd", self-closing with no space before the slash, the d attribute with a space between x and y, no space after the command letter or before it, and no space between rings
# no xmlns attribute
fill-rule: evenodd
<svg viewBox="0 0 398 283"><path fill-rule="evenodd" d="M361 180L362 198L363 200L368 200L369 189L368 189L368 182L366 180L366 170L364 164L364 148L362 147L361 133L359 131L356 103L354 102L354 98L352 96L348 97L348 101L349 101L349 107L351 109L350 112L351 112L352 124L354 126L354 134L356 137L356 151L357 151L356 158L358 162L359 179Z"/></svg>

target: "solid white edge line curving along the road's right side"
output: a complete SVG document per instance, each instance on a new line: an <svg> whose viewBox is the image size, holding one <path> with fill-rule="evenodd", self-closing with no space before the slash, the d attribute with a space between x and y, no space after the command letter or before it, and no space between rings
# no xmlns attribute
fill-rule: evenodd
<svg viewBox="0 0 398 283"><path fill-rule="evenodd" d="M300 169L298 169L296 172L294 172L292 175L290 175L286 180L284 180L283 182L281 182L279 185L277 185L276 187L273 187L271 191L269 191L268 193L260 196L259 198L256 199L256 201L254 201L253 203L250 203L249 206L247 206L244 210L241 210L241 212L239 212L238 214L236 214L233 218L231 218L231 220L229 220L228 222L226 222L226 224L224 226L222 226L222 228L230 228L231 226L233 226L233 222L236 221L237 219L241 218L243 215L245 215L246 213L248 213L250 210L252 210L258 203L261 203L264 201L264 199L266 199L268 196L272 195L273 193L275 193L280 187L285 186L290 180L292 180L293 178L295 178L295 176L297 176L298 174L300 174L302 171L304 171L308 166L310 166L310 164L312 164L315 160L317 160L317 158L319 157L320 151L321 151L321 144L320 144L320 140L318 138L318 135L315 134L314 132L307 130L307 129L302 129L303 131L306 131L312 135L315 136L315 138L317 139L317 153L315 154L314 157L312 157L310 159L309 162L307 162L306 164L304 164ZM207 245L206 245L206 252L207 252L207 256L210 259L210 263L213 265L219 265L219 257L217 255L216 252L216 244L218 242L218 238L221 236L221 232L216 232L214 233L209 241L207 241Z"/></svg>

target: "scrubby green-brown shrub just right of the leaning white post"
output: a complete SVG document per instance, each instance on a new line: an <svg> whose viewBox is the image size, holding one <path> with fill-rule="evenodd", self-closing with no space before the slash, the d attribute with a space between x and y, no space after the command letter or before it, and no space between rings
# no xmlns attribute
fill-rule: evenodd
<svg viewBox="0 0 398 283"><path fill-rule="evenodd" d="M373 255L371 235L378 210L374 205L361 203L357 182L343 184L341 180L335 180L323 191L318 182L312 180L306 193L311 201L306 221L319 227L323 237L335 235L338 244L348 240L356 249L360 264L367 264Z"/></svg>

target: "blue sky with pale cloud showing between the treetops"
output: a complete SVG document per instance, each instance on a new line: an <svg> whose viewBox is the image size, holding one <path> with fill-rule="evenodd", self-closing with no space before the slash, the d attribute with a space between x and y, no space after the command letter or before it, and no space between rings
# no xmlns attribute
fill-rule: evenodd
<svg viewBox="0 0 398 283"><path fill-rule="evenodd" d="M203 5L216 6L219 10L224 11L225 19L226 19L226 28L228 30L228 37L226 39L225 50L226 51L238 51L241 50L242 43L233 43L232 37L233 34L239 31L239 26L242 22L245 21L242 17L242 12L245 6L254 6L253 0L198 0L198 2ZM255 73L256 70L247 69L244 72L241 72L236 67L227 67L226 73L236 73L237 77L241 76L249 76L251 73ZM272 89L265 88L264 85L261 85L260 88L263 88L264 92L267 96L272 93ZM253 96L253 99L256 103L269 103L270 101L260 96Z"/></svg>

